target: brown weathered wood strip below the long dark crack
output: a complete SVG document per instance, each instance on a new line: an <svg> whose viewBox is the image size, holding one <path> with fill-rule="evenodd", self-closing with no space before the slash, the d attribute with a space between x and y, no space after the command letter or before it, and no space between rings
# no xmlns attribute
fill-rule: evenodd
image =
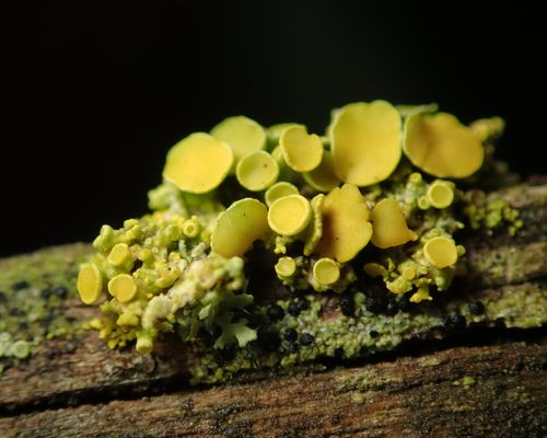
<svg viewBox="0 0 547 438"><path fill-rule="evenodd" d="M453 348L311 376L0 418L7 437L543 437L547 345Z"/></svg>

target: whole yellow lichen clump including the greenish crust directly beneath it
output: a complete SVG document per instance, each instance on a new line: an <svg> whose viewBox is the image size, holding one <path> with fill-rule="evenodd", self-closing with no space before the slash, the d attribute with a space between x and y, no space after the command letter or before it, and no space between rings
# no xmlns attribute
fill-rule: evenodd
<svg viewBox="0 0 547 438"><path fill-rule="evenodd" d="M324 137L244 116L186 137L149 194L153 211L104 226L82 264L80 296L104 313L91 326L109 347L135 342L141 353L176 332L203 357L195 379L214 381L256 362L389 349L443 325L431 304L466 273L459 231L510 222L512 233L522 222L454 181L480 177L499 123L465 127L435 112L361 102L335 111ZM256 266L290 297L271 312ZM333 299L341 314L326 318ZM454 324L465 325L456 309ZM488 312L473 321L490 321ZM231 359L213 366L222 351Z"/></svg>

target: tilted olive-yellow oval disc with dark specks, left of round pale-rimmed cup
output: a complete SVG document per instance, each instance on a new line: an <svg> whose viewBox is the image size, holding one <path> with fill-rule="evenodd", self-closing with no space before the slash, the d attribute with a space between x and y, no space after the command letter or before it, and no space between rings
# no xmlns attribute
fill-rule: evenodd
<svg viewBox="0 0 547 438"><path fill-rule="evenodd" d="M268 210L257 199L243 198L219 215L211 234L211 250L223 257L245 254L268 230Z"/></svg>

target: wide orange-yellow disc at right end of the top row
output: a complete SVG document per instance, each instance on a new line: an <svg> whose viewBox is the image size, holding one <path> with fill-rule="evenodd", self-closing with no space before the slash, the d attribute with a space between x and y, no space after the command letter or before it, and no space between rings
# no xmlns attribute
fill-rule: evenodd
<svg viewBox="0 0 547 438"><path fill-rule="evenodd" d="M480 138L446 113L408 117L403 149L414 165L437 177L467 177L485 159Z"/></svg>

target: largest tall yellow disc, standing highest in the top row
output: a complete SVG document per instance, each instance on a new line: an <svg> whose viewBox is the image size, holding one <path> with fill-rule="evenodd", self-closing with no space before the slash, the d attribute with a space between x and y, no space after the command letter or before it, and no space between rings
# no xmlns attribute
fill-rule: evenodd
<svg viewBox="0 0 547 438"><path fill-rule="evenodd" d="M380 183L400 161L400 115L385 101L352 103L336 111L329 137L335 173L345 183Z"/></svg>

